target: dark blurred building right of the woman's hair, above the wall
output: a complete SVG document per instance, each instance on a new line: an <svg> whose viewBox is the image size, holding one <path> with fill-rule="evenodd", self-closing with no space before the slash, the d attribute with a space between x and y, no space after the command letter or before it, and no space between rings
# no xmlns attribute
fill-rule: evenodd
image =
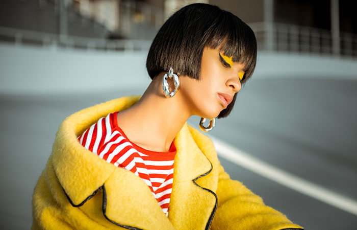
<svg viewBox="0 0 357 230"><path fill-rule="evenodd" d="M357 56L355 1L210 0L256 32L261 50Z"/></svg>

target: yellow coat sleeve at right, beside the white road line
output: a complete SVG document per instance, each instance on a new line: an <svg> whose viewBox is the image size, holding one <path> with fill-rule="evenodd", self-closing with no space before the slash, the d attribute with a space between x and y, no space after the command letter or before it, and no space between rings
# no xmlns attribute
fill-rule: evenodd
<svg viewBox="0 0 357 230"><path fill-rule="evenodd" d="M211 229L302 229L282 213L265 205L241 182L232 180L218 163L218 206Z"/></svg>

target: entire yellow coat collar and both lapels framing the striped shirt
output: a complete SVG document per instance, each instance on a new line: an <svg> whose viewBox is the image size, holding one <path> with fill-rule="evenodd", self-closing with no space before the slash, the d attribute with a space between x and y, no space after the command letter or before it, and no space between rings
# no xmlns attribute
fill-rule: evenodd
<svg viewBox="0 0 357 230"><path fill-rule="evenodd" d="M129 229L208 229L217 198L205 188L208 185L205 179L201 179L207 177L212 165L187 124L175 137L177 153L168 218L144 181L130 171L98 159L77 141L77 136L99 118L130 107L138 99L126 97L99 104L73 114L62 123L52 157L61 187L73 208L80 207L89 216L98 216L90 213L101 206L107 222L102 220L103 216L97 221L109 227L114 223ZM200 186L196 183L199 180ZM95 196L97 193L103 194L102 200Z"/></svg>

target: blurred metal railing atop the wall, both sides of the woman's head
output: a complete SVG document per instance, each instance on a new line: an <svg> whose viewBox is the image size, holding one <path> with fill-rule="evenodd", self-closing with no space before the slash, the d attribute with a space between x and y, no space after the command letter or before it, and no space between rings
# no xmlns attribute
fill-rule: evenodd
<svg viewBox="0 0 357 230"><path fill-rule="evenodd" d="M256 33L260 51L357 58L356 34L340 33L339 53L336 54L333 51L333 38L328 30L286 24L267 25L264 22L249 24L249 26ZM4 27L0 27L0 40L17 45L30 43L42 47L105 51L142 51L148 50L151 44L151 40L143 39L87 38Z"/></svg>

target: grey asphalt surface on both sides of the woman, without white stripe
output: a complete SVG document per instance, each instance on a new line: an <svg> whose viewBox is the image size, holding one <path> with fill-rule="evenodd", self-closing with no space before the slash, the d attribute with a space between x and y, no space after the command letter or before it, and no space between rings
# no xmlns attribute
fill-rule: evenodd
<svg viewBox="0 0 357 230"><path fill-rule="evenodd" d="M0 96L0 223L29 229L37 178L61 121L82 108L143 89L87 95ZM357 200L357 81L252 79L230 117L210 133L264 162ZM189 122L198 127L198 118ZM356 229L357 217L220 158L266 204L305 229Z"/></svg>

